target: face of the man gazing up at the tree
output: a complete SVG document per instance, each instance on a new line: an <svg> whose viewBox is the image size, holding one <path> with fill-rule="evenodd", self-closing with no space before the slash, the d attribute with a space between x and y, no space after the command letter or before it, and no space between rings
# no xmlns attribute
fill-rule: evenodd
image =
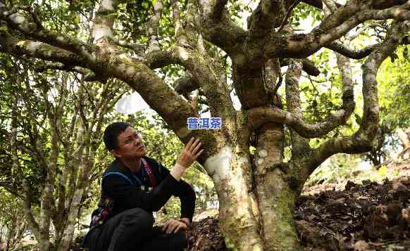
<svg viewBox="0 0 410 251"><path fill-rule="evenodd" d="M118 135L117 141L118 148L112 151L116 157L130 159L142 157L147 153L144 143L142 142L141 134L132 127L127 127L122 134Z"/></svg>

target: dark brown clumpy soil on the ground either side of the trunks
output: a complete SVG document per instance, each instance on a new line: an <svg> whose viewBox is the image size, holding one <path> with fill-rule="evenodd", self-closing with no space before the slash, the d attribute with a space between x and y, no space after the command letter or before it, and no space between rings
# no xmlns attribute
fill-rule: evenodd
<svg viewBox="0 0 410 251"><path fill-rule="evenodd" d="M390 180L306 187L294 208L304 250L410 250L410 162L389 165L383 175ZM188 250L227 250L216 215L201 218Z"/></svg>

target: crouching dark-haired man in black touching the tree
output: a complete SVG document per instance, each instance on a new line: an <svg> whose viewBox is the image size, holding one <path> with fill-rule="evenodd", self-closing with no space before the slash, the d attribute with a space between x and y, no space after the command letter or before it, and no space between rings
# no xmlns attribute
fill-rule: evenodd
<svg viewBox="0 0 410 251"><path fill-rule="evenodd" d="M98 209L92 212L83 245L91 251L184 250L195 193L181 176L204 151L199 140L187 143L170 170L145 156L141 135L128 123L110 124L104 143L116 160L102 176ZM181 218L153 226L152 212L171 195L180 198Z"/></svg>

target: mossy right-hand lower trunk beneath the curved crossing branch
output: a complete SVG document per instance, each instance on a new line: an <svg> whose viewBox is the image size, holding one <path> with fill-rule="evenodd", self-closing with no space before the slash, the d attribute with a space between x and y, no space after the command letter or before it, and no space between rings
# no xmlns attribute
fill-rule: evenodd
<svg viewBox="0 0 410 251"><path fill-rule="evenodd" d="M292 224L292 209L298 194L285 180L283 125L263 125L257 140L256 194L264 250L299 250L297 232Z"/></svg>

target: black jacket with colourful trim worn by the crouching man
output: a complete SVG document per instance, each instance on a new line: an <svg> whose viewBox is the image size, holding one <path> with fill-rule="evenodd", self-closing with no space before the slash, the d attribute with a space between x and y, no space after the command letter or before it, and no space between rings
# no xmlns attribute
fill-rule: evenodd
<svg viewBox="0 0 410 251"><path fill-rule="evenodd" d="M192 186L185 181L174 179L170 171L156 160L145 156L143 158L151 167L156 179L157 186L152 191L148 191L147 188L143 190L144 186L120 160L114 160L104 172L101 181L101 200L104 201L108 196L114 201L113 211L108 218L134 207L156 212L166 204L171 195L175 195L181 201L181 218L186 217L192 221L195 209L195 193ZM113 172L116 174L112 175ZM111 175L106 175L108 173Z"/></svg>

